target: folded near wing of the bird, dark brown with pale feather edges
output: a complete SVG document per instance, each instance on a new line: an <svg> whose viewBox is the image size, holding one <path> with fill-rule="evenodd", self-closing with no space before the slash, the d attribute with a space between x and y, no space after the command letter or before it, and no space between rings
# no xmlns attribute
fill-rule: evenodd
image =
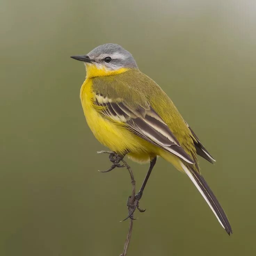
<svg viewBox="0 0 256 256"><path fill-rule="evenodd" d="M194 163L181 147L166 123L152 107L131 107L124 101L113 102L102 95L95 95L95 105L102 106L101 114L117 122L126 123L128 128L142 139L166 150L188 163Z"/></svg>

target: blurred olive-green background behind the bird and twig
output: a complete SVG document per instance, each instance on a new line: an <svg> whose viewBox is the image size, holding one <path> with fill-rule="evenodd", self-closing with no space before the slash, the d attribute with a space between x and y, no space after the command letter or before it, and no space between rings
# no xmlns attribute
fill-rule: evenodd
<svg viewBox="0 0 256 256"><path fill-rule="evenodd" d="M255 1L1 1L0 255L119 255L130 179L79 100L86 54L118 43L217 159L202 173L229 237L190 180L159 159L128 255L255 255ZM128 160L137 188L147 165Z"/></svg>

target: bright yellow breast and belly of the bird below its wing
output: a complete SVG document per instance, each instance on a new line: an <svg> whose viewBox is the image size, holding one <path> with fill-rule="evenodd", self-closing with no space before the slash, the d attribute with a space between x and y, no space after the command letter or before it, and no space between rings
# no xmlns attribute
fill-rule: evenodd
<svg viewBox="0 0 256 256"><path fill-rule="evenodd" d="M160 155L179 168L179 158L157 146L141 139L129 131L123 123L111 122L103 118L94 105L95 93L92 91L92 80L87 78L80 91L80 99L86 121L94 136L103 145L119 154L130 152L128 157L136 162L148 162L156 155Z"/></svg>

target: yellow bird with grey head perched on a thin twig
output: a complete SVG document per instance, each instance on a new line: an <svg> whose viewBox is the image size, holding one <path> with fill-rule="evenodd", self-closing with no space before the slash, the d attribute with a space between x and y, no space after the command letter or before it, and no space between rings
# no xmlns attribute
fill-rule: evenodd
<svg viewBox="0 0 256 256"><path fill-rule="evenodd" d="M215 159L168 95L138 69L131 53L118 44L106 43L71 58L85 64L82 109L94 136L115 153L109 170L120 167L125 155L135 162L150 163L135 195L137 207L157 157L162 157L191 179L221 226L232 234L222 206L200 172L197 155L210 163Z"/></svg>

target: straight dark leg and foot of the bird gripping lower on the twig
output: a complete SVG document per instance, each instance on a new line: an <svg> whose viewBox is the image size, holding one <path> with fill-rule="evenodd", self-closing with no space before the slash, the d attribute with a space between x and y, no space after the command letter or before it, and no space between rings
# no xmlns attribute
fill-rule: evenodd
<svg viewBox="0 0 256 256"><path fill-rule="evenodd" d="M149 167L149 170L147 171L147 175L142 183L142 186L141 186L141 189L139 190L139 192L135 195L135 201L134 203L131 205L131 204L128 204L127 206L130 208L129 210L129 215L124 219L124 221L128 218L133 218L133 213L134 211L136 210L136 208L141 212L143 213L146 209L141 209L139 207L139 200L142 198L142 194L143 194L143 191L145 189L145 186L147 184L147 180L149 179L149 176L153 170L153 167L155 165L155 162L157 161L157 157L154 157L152 160L150 160L150 167Z"/></svg>

